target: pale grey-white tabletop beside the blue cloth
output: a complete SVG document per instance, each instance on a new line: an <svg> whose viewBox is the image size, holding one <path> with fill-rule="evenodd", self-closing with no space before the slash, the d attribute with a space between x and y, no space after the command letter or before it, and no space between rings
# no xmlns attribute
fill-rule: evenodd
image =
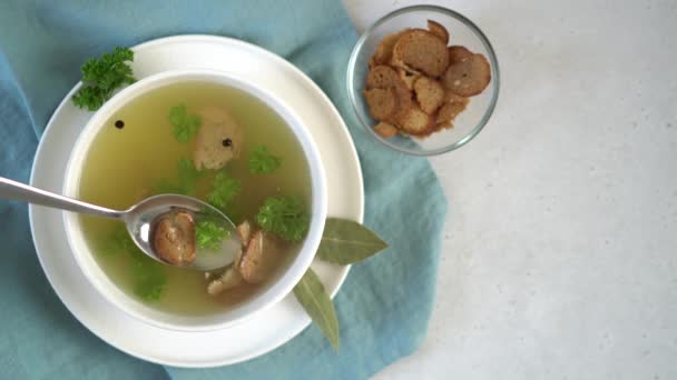
<svg viewBox="0 0 677 380"><path fill-rule="evenodd" d="M492 41L428 338L375 379L677 379L677 1L433 1ZM344 0L357 30L416 1Z"/></svg>

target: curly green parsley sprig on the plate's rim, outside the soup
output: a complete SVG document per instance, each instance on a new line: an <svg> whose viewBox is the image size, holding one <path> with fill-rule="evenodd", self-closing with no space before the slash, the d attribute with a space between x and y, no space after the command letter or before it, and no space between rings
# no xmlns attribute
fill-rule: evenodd
<svg viewBox="0 0 677 380"><path fill-rule="evenodd" d="M136 81L127 63L131 61L134 51L121 47L100 58L88 59L80 68L82 87L72 97L73 104L90 111L98 110L118 87Z"/></svg>

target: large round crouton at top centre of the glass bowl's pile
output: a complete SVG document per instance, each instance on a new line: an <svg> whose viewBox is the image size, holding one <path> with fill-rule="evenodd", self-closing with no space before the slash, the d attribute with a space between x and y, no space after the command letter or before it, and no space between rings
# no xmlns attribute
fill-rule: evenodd
<svg viewBox="0 0 677 380"><path fill-rule="evenodd" d="M449 66L447 44L433 33L412 29L400 36L391 60L398 67L420 70L431 77L444 73Z"/></svg>

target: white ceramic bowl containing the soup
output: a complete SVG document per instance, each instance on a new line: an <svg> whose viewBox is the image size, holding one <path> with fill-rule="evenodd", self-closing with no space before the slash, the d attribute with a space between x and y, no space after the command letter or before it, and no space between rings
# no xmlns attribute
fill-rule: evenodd
<svg viewBox="0 0 677 380"><path fill-rule="evenodd" d="M282 100L257 86L234 78L227 72L216 70L176 70L144 78L125 88L108 100L81 131L69 158L63 183L63 193L68 197L78 197L78 187L86 153L91 146L92 140L104 127L105 121L108 120L115 111L148 91L185 81L220 83L256 97L283 118L300 142L311 171L311 226L298 254L290 263L286 271L268 284L262 292L236 307L224 309L220 313L200 317L169 313L147 306L128 296L110 281L108 276L97 263L94 258L94 252L91 252L85 240L78 216L65 212L63 219L68 243L71 247L75 259L82 270L82 273L97 291L115 307L134 318L163 329L209 331L223 329L241 322L282 300L301 280L311 266L317 247L320 246L327 209L327 189L324 168L321 163L320 152L307 129Z"/></svg>

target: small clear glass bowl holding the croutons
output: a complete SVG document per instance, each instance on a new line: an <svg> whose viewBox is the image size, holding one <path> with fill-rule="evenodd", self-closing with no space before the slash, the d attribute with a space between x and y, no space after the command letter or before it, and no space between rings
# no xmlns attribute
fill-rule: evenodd
<svg viewBox="0 0 677 380"><path fill-rule="evenodd" d="M491 81L482 93L471 97L467 109L453 120L453 128L442 129L425 138L396 134L379 136L373 127L377 123L370 113L362 91L365 87L369 60L381 40L406 28L426 29L428 20L441 23L449 31L449 44L460 44L487 57L491 66ZM496 108L499 96L499 63L491 43L472 21L464 16L435 6L414 6L395 10L369 28L357 40L347 67L349 98L357 119L376 140L408 154L434 156L461 148L484 128Z"/></svg>

